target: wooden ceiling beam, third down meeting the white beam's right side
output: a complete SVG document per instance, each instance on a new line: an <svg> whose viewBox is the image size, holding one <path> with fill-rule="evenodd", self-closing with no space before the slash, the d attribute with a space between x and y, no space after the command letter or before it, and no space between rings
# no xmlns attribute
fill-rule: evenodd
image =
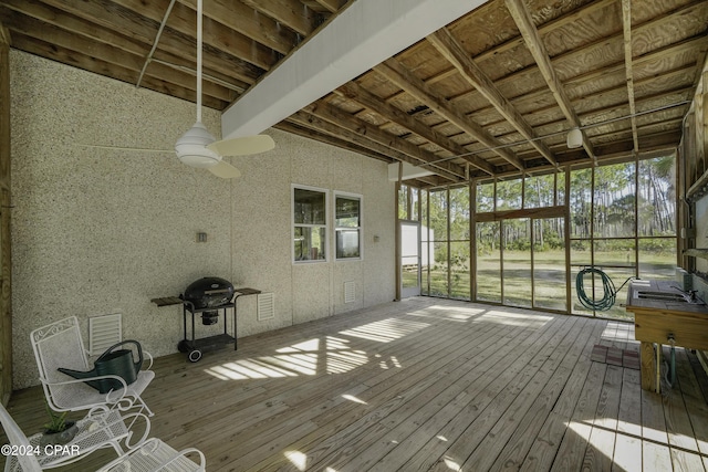
<svg viewBox="0 0 708 472"><path fill-rule="evenodd" d="M444 136L442 134L437 133L429 126L426 126L425 124L420 123L418 119L408 115L406 112L402 111L400 108L397 108L386 103L385 101L372 94L371 92L366 91L365 88L362 88L355 82L348 82L342 85L340 88L337 88L337 91L335 91L335 93L341 93L347 99L352 99L363 105L364 107L371 109L372 112L375 112L376 114L383 116L389 122L393 122L399 126L403 126L409 129L410 132L423 137L424 139L427 139L428 141L435 144L436 146L439 146L442 149L450 151L454 156L462 156L462 159L467 160L478 169L483 170L485 172L491 176L494 175L496 169L491 164L475 156L465 156L466 154L468 154L468 150L465 147L455 143L452 139L448 138L447 136Z"/></svg>

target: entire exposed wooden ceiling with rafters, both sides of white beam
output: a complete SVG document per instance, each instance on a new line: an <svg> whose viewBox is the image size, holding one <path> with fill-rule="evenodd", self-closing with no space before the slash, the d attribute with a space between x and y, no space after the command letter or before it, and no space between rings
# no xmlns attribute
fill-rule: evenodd
<svg viewBox="0 0 708 472"><path fill-rule="evenodd" d="M292 118L283 113L274 126L375 159L427 165L438 175L426 178L426 186L468 174L486 178L584 166L592 164L587 156L616 161L678 144L708 52L705 0L642 8L628 0L430 1L426 19L440 13L446 21L421 33L402 20L410 8L381 21L381 31L402 28L418 36L399 52L387 52L395 56L391 62L382 55L369 70L360 67L308 95L292 107L301 113ZM0 23L13 49L132 84L143 74L142 88L194 102L196 0L177 0L168 15L167 3L0 0ZM226 116L289 57L325 38L337 18L363 4L394 3L205 1L204 105ZM350 33L374 38L365 32L369 23L360 20ZM326 51L340 36L351 50L350 33L340 29L326 36ZM378 52L399 35L376 36L365 51ZM428 40L419 41L423 36ZM335 64L336 57L325 63L332 69L352 63ZM323 77L316 73L312 81ZM273 90L304 96L282 84ZM246 107L249 123L256 122L249 112L262 104ZM584 148L568 149L565 133L576 126L583 128Z"/></svg>

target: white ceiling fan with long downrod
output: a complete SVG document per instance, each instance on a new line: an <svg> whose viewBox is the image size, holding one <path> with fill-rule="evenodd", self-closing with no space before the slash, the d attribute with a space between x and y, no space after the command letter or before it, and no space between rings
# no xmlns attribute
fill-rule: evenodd
<svg viewBox="0 0 708 472"><path fill-rule="evenodd" d="M201 54L202 54L202 0L197 0L197 120L175 143L177 158L187 166L205 168L217 177L240 177L236 167L223 160L223 156L248 156L264 153L275 147L268 135L244 136L217 140L201 123ZM112 146L86 145L87 147L114 149ZM160 149L118 148L136 151L166 151Z"/></svg>

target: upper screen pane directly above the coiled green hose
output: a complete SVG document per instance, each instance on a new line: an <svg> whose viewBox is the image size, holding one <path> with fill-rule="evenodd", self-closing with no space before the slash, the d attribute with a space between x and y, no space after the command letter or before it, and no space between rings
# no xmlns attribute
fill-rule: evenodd
<svg viewBox="0 0 708 472"><path fill-rule="evenodd" d="M634 235L636 199L634 162L595 168L593 234L595 238Z"/></svg>

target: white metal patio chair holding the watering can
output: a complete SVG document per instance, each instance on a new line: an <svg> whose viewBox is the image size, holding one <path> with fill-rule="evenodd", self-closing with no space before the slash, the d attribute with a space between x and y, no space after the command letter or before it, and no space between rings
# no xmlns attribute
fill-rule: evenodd
<svg viewBox="0 0 708 472"><path fill-rule="evenodd" d="M131 385L119 376L97 376L88 379L75 379L58 370L64 367L72 370L88 371L92 366L81 338L79 321L75 316L61 319L30 334L34 358L40 373L40 381L49 406L55 411L81 411L101 409L107 411L114 407L126 411L133 407L145 408L148 416L153 411L145 405L140 395L155 378L149 370L153 357L143 352L149 361L147 369L142 369ZM115 379L123 388L108 394L100 394L96 389L84 384L86 380Z"/></svg>

